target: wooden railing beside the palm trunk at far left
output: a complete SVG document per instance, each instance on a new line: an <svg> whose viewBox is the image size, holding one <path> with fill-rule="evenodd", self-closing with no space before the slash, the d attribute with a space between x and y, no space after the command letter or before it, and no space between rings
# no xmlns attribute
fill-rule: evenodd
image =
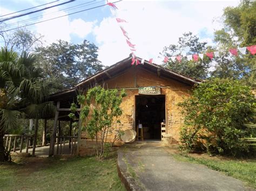
<svg viewBox="0 0 256 191"><path fill-rule="evenodd" d="M23 145L26 142L26 153L29 151L29 143L32 143L33 135L4 135L5 150L13 151L19 150L22 153Z"/></svg>

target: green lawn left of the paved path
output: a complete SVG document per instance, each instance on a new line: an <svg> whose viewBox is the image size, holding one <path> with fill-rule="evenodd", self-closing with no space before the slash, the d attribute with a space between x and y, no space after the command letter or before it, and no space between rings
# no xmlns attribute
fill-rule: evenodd
<svg viewBox="0 0 256 191"><path fill-rule="evenodd" d="M103 161L95 157L39 160L0 165L0 190L125 190L116 155Z"/></svg>

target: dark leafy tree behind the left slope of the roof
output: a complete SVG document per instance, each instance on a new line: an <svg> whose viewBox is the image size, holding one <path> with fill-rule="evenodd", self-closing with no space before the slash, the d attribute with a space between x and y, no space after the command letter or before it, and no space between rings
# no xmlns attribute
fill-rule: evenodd
<svg viewBox="0 0 256 191"><path fill-rule="evenodd" d="M103 69L98 60L98 47L84 40L71 44L58 40L46 47L36 48L38 65L43 68L52 91L74 87L79 81ZM53 86L57 83L57 87Z"/></svg>

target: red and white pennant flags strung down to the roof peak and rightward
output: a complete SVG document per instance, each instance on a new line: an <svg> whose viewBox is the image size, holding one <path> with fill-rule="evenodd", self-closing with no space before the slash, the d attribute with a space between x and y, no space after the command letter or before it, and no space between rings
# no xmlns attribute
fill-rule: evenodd
<svg viewBox="0 0 256 191"><path fill-rule="evenodd" d="M107 5L111 6L114 10L118 10L117 6L114 5L113 3L110 3L110 2L107 1ZM122 24L122 23L128 23L128 22L127 22L125 19L122 19L122 18L116 18L116 21L117 21L117 23L119 24L119 27L120 27L120 29L122 30L123 35L124 35L124 37L125 37L125 39L126 39L126 44L129 46L130 51L131 51L131 53L132 53L132 62L131 62L131 65L134 65L134 64L136 64L136 66L139 65L139 64L142 64L142 65L143 65L145 59L142 59L142 61L140 61L140 60L138 60L138 59L136 58L136 55L135 55L135 52L136 52L136 44L133 44L133 43L131 42L131 38L129 37L129 33L125 31L125 29L124 29L124 27L123 27L122 25L120 25L120 24ZM242 47L242 48L231 48L231 49L229 50L229 52L230 52L230 54L233 55L233 56L238 56L238 51L239 51L241 54L244 55L244 54L246 54L246 50L248 50L252 55L254 55L254 54L256 54L256 45L247 46L247 47ZM200 58L201 60L203 60L203 59L204 59L204 55L206 55L208 58L210 58L210 59L212 60L214 57L215 57L215 58L219 57L219 56L220 56L220 53L219 53L219 51L215 51L215 52L207 52L207 53L205 53L205 54L204 54L204 53L201 53L201 54L186 55L185 57L187 58L187 60L193 60L193 61L196 61L196 62L197 62L197 61L199 60L199 58ZM172 60L173 62L176 62L176 60L177 60L178 62L181 62L182 56L181 56L181 55L177 55L177 56L171 56L170 58L171 58L171 60ZM164 62L166 63L166 62L168 62L168 61L169 61L169 56L165 56L165 57L164 57ZM152 59L152 58L149 59L149 62L150 62L150 63L153 63L153 59Z"/></svg>

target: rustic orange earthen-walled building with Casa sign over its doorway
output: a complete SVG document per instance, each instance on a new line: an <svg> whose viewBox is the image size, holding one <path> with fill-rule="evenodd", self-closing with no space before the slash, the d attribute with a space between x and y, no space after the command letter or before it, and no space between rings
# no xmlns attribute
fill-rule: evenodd
<svg viewBox="0 0 256 191"><path fill-rule="evenodd" d="M131 66L131 60L129 56L88 77L75 88L51 95L50 100L56 103L61 100L58 111L62 114L58 114L57 118L69 120L69 104L81 89L86 90L96 84L109 89L125 89L127 96L123 98L123 115L120 117L122 130L136 130L140 123L144 128L144 139L161 140L165 138L161 136L161 124L164 123L166 137L172 143L179 141L183 118L177 103L183 100L183 96L189 96L189 90L199 81L148 61L144 61L143 65ZM83 153L86 135L83 132L80 135L78 152Z"/></svg>

